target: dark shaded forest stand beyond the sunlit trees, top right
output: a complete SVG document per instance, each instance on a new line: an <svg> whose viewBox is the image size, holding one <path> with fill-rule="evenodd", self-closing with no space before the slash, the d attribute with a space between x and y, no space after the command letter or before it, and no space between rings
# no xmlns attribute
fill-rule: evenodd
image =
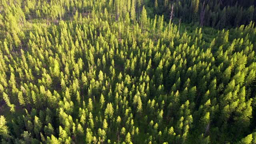
<svg viewBox="0 0 256 144"><path fill-rule="evenodd" d="M142 1L142 0L139 0ZM232 28L256 20L256 0L144 0L152 14L170 17L182 22L194 22L198 26L217 29Z"/></svg>

